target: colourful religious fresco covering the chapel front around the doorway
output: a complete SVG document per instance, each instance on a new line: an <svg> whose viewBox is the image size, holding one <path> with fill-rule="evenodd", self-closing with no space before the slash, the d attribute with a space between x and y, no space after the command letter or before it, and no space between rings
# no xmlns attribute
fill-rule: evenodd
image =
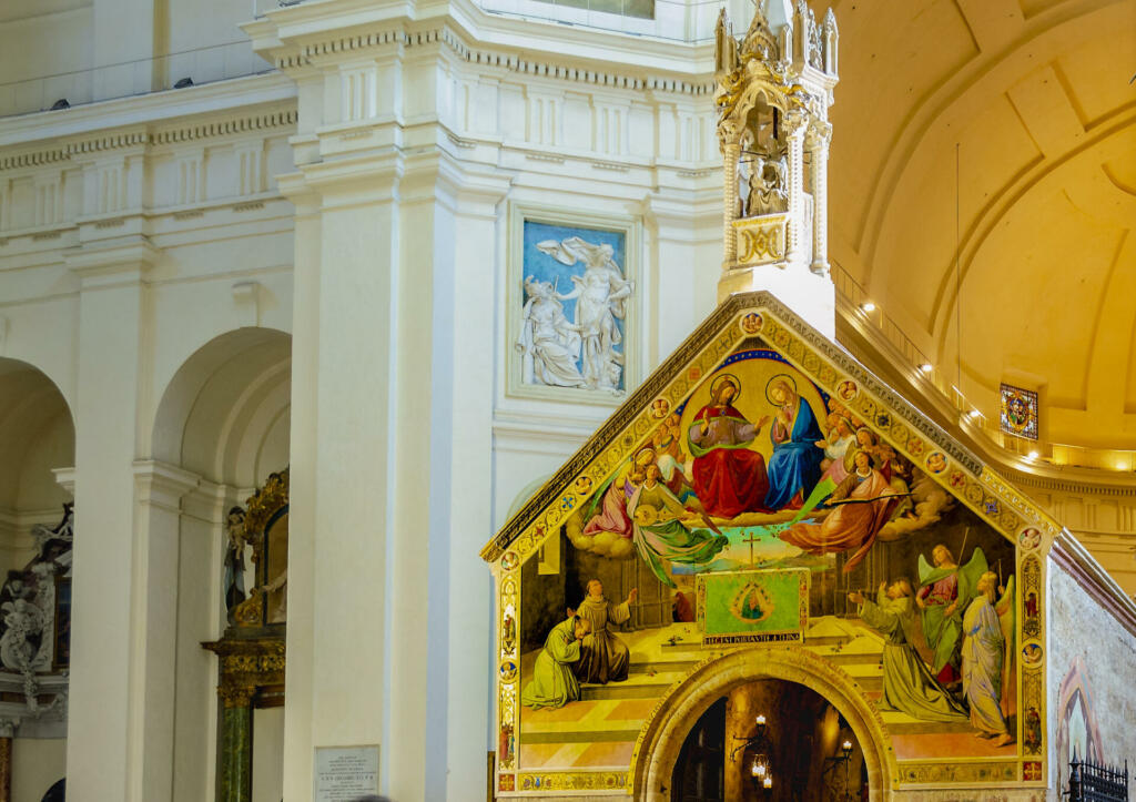
<svg viewBox="0 0 1136 802"><path fill-rule="evenodd" d="M500 558L501 791L620 787L668 688L713 650L771 641L859 683L897 782L1022 779L1042 749L1019 716L1039 563L1024 616L1016 541L988 518L1019 520L855 378L799 367L783 327L736 325L680 393L640 399L623 458L558 491L541 549Z"/></svg>

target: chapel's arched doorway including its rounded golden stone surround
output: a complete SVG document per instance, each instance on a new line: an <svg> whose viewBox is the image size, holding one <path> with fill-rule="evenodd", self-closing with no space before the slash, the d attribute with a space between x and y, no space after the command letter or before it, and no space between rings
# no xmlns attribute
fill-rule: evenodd
<svg viewBox="0 0 1136 802"><path fill-rule="evenodd" d="M868 799L885 800L893 775L878 713L852 678L786 645L695 668L644 725L630 779L649 802L859 800L864 785Z"/></svg>

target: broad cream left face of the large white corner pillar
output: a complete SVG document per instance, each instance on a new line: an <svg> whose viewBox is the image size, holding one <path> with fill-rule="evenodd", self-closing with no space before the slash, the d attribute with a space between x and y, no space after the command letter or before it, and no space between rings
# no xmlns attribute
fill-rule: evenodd
<svg viewBox="0 0 1136 802"><path fill-rule="evenodd" d="M392 491L395 475L406 470L392 441L391 401L399 390L393 351L402 278L401 169L396 156L354 161L345 172L334 162L312 164L302 176L281 182L298 204L284 736L289 800L310 797L320 746L379 744L384 785L393 770L384 717L391 682L389 533L398 507ZM428 332L429 320L419 325ZM361 331L369 332L366 342L359 340ZM414 478L425 485L424 477ZM420 533L421 521L411 528ZM418 630L400 649L412 651L419 643L424 649L424 609L409 615ZM423 679L411 678L406 691ZM396 732L393 740L408 735Z"/></svg>

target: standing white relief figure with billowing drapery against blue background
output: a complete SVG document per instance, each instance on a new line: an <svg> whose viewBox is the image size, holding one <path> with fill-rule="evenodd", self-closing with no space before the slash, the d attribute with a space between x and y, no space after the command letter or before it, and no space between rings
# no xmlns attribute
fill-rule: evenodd
<svg viewBox="0 0 1136 802"><path fill-rule="evenodd" d="M554 293L561 301L576 300L576 319L583 359L584 384L593 390L619 390L624 353L617 346L623 335L616 323L626 315L626 302L635 290L634 282L624 277L612 259L611 245L593 244L578 236L567 240L545 240L536 248L562 265L584 262L584 275L573 276L575 289Z"/></svg>

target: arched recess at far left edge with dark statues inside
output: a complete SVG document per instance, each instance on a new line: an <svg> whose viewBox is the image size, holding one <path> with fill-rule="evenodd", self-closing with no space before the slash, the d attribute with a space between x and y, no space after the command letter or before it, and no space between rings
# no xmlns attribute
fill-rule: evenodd
<svg viewBox="0 0 1136 802"><path fill-rule="evenodd" d="M0 359L0 738L12 797L37 800L67 771L75 425L55 383L15 359ZM19 643L9 616L26 625Z"/></svg>

